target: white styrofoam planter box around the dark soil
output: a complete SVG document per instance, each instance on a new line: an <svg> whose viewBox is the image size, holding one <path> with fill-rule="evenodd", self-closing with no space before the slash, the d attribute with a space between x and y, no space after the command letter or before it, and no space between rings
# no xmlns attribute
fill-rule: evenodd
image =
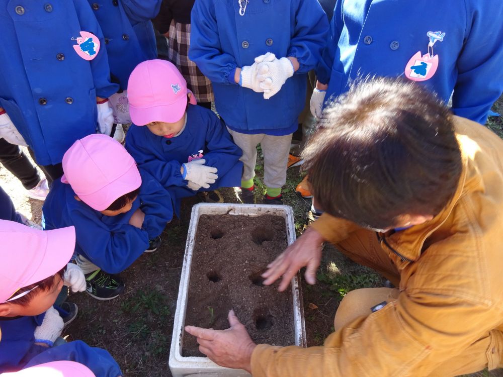
<svg viewBox="0 0 503 377"><path fill-rule="evenodd" d="M200 203L192 208L191 221L185 247L184 264L182 276L180 278L180 289L178 291L177 311L175 313L175 323L173 326L173 338L170 350L170 369L173 377L188 377L204 375L205 377L249 377L249 373L242 369L229 369L215 364L207 357L183 357L182 343L185 336L185 313L187 309L191 261L194 251L194 241L196 238L197 225L201 215L244 215L261 216L275 215L285 219L287 243L295 242L295 225L293 221L293 211L289 206L271 206L260 204L228 204ZM306 331L304 326L304 310L302 305L302 293L299 286L298 274L292 279L293 295L293 318L292 325L295 331L295 344L306 346Z"/></svg>

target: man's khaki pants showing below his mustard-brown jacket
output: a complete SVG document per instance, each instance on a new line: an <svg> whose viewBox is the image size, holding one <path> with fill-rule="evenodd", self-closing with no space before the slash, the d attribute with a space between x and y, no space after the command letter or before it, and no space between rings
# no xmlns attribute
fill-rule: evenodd
<svg viewBox="0 0 503 377"><path fill-rule="evenodd" d="M373 268L393 285L398 286L399 274L379 245L375 232L360 230L349 239L336 244L336 247L357 263ZM371 308L386 301L389 303L398 298L398 289L364 288L349 292L337 309L333 326L337 331L358 317L370 315ZM476 342L472 343L461 354L440 362L430 376L447 377L474 373L485 367L494 369L502 367L503 333L491 330Z"/></svg>

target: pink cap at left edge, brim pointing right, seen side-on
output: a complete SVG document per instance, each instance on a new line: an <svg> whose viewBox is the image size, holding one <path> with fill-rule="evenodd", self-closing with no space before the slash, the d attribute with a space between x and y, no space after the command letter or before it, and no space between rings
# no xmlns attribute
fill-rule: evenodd
<svg viewBox="0 0 503 377"><path fill-rule="evenodd" d="M75 228L42 231L0 220L0 240L0 303L3 303L20 288L54 275L68 263L75 248Z"/></svg>

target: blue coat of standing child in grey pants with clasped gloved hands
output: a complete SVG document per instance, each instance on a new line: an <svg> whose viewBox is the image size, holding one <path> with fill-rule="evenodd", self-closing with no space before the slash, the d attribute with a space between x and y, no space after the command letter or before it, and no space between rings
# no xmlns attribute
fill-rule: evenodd
<svg viewBox="0 0 503 377"><path fill-rule="evenodd" d="M317 0L250 1L244 16L237 0L196 0L191 17L189 58L211 80L217 112L229 128L261 133L296 124L305 105L306 74L318 63L328 31ZM234 82L236 67L266 52L300 63L270 100Z"/></svg>

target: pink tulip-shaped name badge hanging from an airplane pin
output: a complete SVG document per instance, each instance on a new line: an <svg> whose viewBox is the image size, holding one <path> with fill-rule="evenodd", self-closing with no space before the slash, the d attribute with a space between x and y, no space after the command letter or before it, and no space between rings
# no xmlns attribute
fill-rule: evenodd
<svg viewBox="0 0 503 377"><path fill-rule="evenodd" d="M433 77L439 66L439 56L433 54L433 45L442 42L445 33L440 31L426 33L429 38L428 53L422 55L417 51L405 65L405 77L412 81L426 81Z"/></svg>

